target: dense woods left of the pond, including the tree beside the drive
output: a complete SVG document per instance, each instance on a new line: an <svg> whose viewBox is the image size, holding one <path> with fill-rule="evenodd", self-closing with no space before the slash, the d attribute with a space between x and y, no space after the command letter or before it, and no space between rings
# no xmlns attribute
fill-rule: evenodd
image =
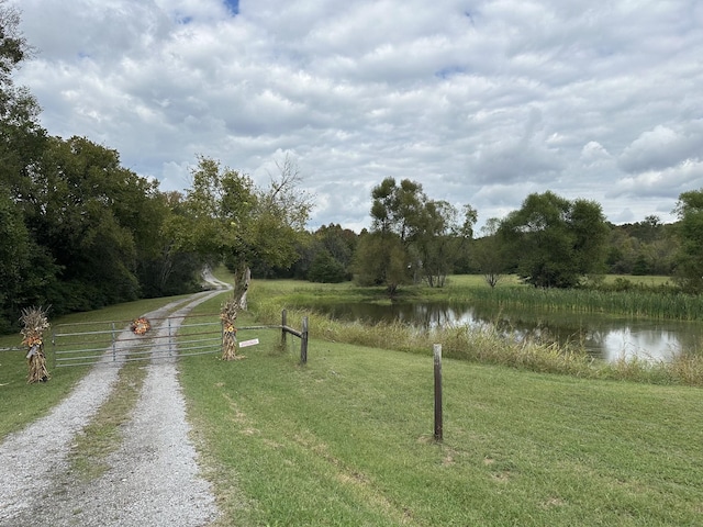
<svg viewBox="0 0 703 527"><path fill-rule="evenodd" d="M21 310L52 316L197 291L203 266L284 268L310 203L286 158L270 186L199 158L185 192L120 164L86 137L53 137L12 74L32 49L0 0L0 332Z"/></svg>

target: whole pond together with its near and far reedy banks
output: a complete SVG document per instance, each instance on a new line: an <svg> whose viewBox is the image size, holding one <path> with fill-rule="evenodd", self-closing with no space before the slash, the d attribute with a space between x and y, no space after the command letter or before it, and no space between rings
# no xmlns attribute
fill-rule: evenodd
<svg viewBox="0 0 703 527"><path fill-rule="evenodd" d="M703 385L703 298L651 279L635 291L540 290L480 277L446 288L382 288L292 280L255 285L255 312L309 316L312 338L432 354L539 372ZM663 284L663 287L661 287Z"/></svg>

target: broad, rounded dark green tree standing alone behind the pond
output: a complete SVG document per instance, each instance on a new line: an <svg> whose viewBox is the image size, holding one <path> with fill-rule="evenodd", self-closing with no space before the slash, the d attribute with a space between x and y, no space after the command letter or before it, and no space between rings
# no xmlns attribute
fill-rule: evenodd
<svg viewBox="0 0 703 527"><path fill-rule="evenodd" d="M542 288L571 288L602 272L609 233L601 205L547 191L531 194L499 228L517 262L517 274Z"/></svg>

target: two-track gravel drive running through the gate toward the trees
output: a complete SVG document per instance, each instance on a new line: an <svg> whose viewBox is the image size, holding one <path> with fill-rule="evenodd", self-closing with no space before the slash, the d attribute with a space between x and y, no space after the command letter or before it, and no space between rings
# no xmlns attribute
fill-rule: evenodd
<svg viewBox="0 0 703 527"><path fill-rule="evenodd" d="M211 274L205 279L228 288ZM219 293L198 293L146 316L185 316ZM171 318L171 329L179 322ZM51 414L0 444L0 526L186 527L215 519L214 496L199 475L189 438L176 363L159 359L146 368L123 442L101 478L87 484L71 480L68 453L75 435L108 400L119 367L93 367Z"/></svg>

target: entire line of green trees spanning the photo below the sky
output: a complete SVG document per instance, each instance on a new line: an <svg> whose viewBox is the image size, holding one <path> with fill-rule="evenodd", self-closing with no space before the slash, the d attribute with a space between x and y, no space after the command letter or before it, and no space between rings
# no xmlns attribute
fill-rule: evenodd
<svg viewBox="0 0 703 527"><path fill-rule="evenodd" d="M703 289L703 190L681 194L679 222L657 216L611 225L595 202L529 195L475 236L478 213L387 178L370 195L371 226L310 232L314 197L294 161L266 187L199 157L185 192L124 168L119 153L86 137L49 136L34 97L12 72L31 53L19 14L0 2L0 332L21 310L52 316L141 298L196 291L205 265L239 277L356 280L390 295L406 283L443 287L451 273L495 285L516 273L535 287L574 287L603 272L676 276Z"/></svg>

